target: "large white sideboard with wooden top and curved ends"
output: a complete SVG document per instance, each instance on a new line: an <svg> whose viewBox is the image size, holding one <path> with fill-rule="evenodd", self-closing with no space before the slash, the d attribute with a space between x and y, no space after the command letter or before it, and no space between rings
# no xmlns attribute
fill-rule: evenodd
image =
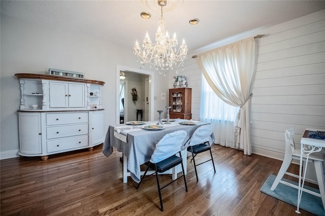
<svg viewBox="0 0 325 216"><path fill-rule="evenodd" d="M79 149L92 150L105 138L104 82L40 74L15 74L21 99L21 156L41 156ZM31 104L38 104L32 109Z"/></svg>

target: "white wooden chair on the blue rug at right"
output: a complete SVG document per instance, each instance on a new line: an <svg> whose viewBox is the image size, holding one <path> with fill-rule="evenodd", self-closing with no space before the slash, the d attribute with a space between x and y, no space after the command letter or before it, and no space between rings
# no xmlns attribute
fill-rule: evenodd
<svg viewBox="0 0 325 216"><path fill-rule="evenodd" d="M298 189L298 186L294 184L290 184L288 182L285 182L282 180L284 174L299 178L299 175L287 172L287 169L289 168L291 162L293 159L300 160L300 150L296 149L295 140L294 140L295 130L293 128L288 129L284 133L285 137L285 153L284 153L284 159L281 165L281 168L278 172L278 175L275 178L275 181L271 187L271 191L274 191L275 188L279 185L279 183L285 184L287 186L293 187ZM306 161L306 157L303 157L303 161ZM312 153L310 154L308 158L308 162L312 162L315 165L316 170L316 177L317 182L305 178L305 181L317 184L319 187L320 193L315 193L313 191L310 191L308 189L302 189L304 192L313 194L315 196L321 197L323 206L325 207L325 190L324 190L324 154L322 153Z"/></svg>

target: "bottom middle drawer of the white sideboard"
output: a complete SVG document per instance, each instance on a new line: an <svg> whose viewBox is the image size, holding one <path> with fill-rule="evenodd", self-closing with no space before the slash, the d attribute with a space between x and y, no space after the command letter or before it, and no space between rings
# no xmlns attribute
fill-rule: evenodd
<svg viewBox="0 0 325 216"><path fill-rule="evenodd" d="M55 139L47 141L47 153L88 146L88 136Z"/></svg>

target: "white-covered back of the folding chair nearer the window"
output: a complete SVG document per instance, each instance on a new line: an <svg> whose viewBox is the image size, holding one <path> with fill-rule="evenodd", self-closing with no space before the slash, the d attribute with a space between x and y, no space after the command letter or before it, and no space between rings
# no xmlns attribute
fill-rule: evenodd
<svg viewBox="0 0 325 216"><path fill-rule="evenodd" d="M209 141L209 146L211 146L213 144L213 142L214 142L214 140L212 140L212 138L211 138L211 134L213 133L213 129L214 129L214 127L211 124L202 125L198 129L196 129L194 131L192 137L190 138L186 148L188 146L195 146L195 145L204 143L206 141Z"/></svg>

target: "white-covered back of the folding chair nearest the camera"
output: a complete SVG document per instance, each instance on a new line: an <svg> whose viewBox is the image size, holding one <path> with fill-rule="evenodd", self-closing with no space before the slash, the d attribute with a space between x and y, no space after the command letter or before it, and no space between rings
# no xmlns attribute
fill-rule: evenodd
<svg viewBox="0 0 325 216"><path fill-rule="evenodd" d="M166 134L157 143L156 148L154 149L154 152L151 155L150 162L158 163L181 151L181 146L185 137L186 132L184 130L179 130Z"/></svg>

